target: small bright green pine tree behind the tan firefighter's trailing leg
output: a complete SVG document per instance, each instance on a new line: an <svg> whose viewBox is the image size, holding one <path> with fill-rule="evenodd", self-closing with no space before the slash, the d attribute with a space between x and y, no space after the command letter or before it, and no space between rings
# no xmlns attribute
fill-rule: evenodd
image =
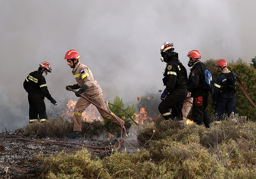
<svg viewBox="0 0 256 179"><path fill-rule="evenodd" d="M136 119L134 103L133 105L125 107L123 99L120 99L118 95L114 98L113 103L108 101L108 109L125 122L134 122ZM104 119L104 122L106 122L106 124L110 123L107 119Z"/></svg>

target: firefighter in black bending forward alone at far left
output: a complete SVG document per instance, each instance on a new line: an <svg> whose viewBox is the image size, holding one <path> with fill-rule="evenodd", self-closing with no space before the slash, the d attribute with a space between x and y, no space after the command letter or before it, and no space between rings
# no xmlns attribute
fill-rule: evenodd
<svg viewBox="0 0 256 179"><path fill-rule="evenodd" d="M39 122L47 120L45 97L52 104L57 105L56 100L51 97L46 85L45 76L47 72L51 73L51 65L48 62L42 62L39 64L38 70L29 73L23 83L23 87L28 93L29 123L37 121L38 115Z"/></svg>

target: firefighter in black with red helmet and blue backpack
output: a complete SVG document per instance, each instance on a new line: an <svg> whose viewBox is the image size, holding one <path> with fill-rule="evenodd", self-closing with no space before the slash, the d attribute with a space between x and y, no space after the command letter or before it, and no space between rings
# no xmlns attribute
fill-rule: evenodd
<svg viewBox="0 0 256 179"><path fill-rule="evenodd" d="M191 92L191 97L193 97L192 118L197 125L204 123L205 127L209 128L209 124L212 122L206 110L209 92L203 90L204 71L207 67L200 61L199 51L189 51L187 56L189 57L188 66L193 66L188 76L187 85L187 90Z"/></svg>

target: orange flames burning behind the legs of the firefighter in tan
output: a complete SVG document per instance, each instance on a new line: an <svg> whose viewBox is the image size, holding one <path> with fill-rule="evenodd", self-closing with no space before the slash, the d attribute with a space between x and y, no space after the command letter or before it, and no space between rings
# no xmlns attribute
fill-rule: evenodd
<svg viewBox="0 0 256 179"><path fill-rule="evenodd" d="M72 116L76 103L77 103L76 101L73 101L72 99L70 99L67 104L69 110L63 111L63 115ZM100 113L94 105L89 105L86 108L86 110L82 113L82 117L84 120L87 120L87 121L92 121L92 119L101 120Z"/></svg>

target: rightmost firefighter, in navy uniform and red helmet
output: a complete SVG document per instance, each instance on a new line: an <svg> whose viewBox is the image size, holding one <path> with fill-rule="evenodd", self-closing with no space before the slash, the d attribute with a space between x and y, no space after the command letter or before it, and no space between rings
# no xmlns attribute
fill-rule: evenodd
<svg viewBox="0 0 256 179"><path fill-rule="evenodd" d="M212 108L215 109L215 121L218 124L222 120L224 110L226 110L228 117L234 112L236 114L235 106L235 84L236 75L228 70L228 63L225 59L219 59L216 63L219 76L214 84L214 93L212 94Z"/></svg>

